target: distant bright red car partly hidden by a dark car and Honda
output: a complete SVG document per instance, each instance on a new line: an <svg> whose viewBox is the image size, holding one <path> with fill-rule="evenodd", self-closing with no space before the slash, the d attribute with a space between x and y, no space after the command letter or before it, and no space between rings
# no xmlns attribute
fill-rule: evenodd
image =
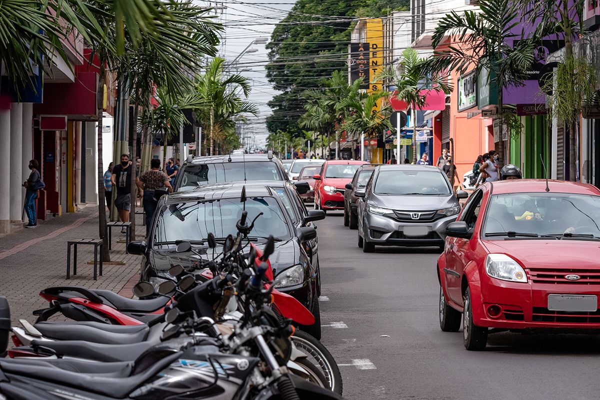
<svg viewBox="0 0 600 400"><path fill-rule="evenodd" d="M354 173L365 161L327 160L319 174L314 175L314 209L344 210L346 183L352 182Z"/></svg>

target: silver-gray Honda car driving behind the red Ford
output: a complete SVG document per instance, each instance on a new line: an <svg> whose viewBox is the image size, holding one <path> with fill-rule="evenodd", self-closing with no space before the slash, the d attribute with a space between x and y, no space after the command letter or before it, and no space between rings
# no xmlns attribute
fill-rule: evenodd
<svg viewBox="0 0 600 400"><path fill-rule="evenodd" d="M456 220L459 198L436 166L377 166L358 201L358 247L443 246L446 226Z"/></svg>

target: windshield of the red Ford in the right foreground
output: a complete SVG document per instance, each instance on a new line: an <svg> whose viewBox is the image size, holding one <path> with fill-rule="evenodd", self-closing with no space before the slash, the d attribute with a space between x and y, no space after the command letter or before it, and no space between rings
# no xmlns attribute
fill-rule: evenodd
<svg viewBox="0 0 600 400"><path fill-rule="evenodd" d="M503 240L515 234L600 237L599 224L600 196L509 193L491 196L482 238Z"/></svg>

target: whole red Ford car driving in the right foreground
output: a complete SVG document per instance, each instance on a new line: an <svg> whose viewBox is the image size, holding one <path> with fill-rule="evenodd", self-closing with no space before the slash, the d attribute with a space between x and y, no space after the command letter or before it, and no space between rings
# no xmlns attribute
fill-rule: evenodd
<svg viewBox="0 0 600 400"><path fill-rule="evenodd" d="M600 190L545 180L486 183L446 228L440 328L483 350L498 331L600 328ZM594 331L600 333L600 331Z"/></svg>

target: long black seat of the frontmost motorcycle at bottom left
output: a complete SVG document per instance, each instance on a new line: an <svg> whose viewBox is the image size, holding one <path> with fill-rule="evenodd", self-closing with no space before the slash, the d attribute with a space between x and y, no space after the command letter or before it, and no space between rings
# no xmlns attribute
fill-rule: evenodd
<svg viewBox="0 0 600 400"><path fill-rule="evenodd" d="M65 371L52 366L31 365L13 360L1 360L0 369L5 374L31 377L39 381L50 381L68 387L77 387L87 392L94 392L109 398L126 398L133 390L146 381L152 380L160 371L167 368L173 361L181 356L181 352L164 357L151 365L148 369L128 377L106 377L94 373L82 374L80 372ZM22 378L23 380L23 378Z"/></svg>

